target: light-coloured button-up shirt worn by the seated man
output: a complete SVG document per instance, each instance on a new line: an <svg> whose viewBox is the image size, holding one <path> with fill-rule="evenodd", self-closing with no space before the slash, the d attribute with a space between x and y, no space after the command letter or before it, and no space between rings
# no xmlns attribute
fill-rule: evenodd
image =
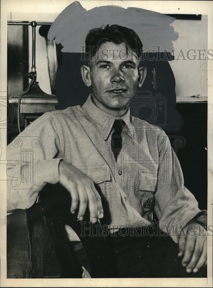
<svg viewBox="0 0 213 288"><path fill-rule="evenodd" d="M64 159L97 185L108 204L109 228L149 225L155 209L159 221L177 232L201 214L165 132L130 116L129 109L121 118L126 125L117 162L111 151L117 118L95 106L91 95L82 107L48 112L30 124L7 147L7 211L32 206L46 183L59 181Z"/></svg>

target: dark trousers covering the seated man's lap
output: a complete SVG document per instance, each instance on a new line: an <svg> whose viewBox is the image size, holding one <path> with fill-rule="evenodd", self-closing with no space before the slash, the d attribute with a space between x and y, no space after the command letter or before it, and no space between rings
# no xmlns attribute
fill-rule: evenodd
<svg viewBox="0 0 213 288"><path fill-rule="evenodd" d="M178 244L170 236L132 235L116 232L108 237L119 278L207 277L207 269L187 273L181 265ZM139 235L143 233L138 233Z"/></svg>

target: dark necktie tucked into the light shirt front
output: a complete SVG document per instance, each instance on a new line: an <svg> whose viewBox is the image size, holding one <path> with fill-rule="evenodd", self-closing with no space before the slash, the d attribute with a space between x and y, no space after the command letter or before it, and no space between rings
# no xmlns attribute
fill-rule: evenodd
<svg viewBox="0 0 213 288"><path fill-rule="evenodd" d="M122 136L121 132L125 122L121 119L115 120L112 128L114 128L114 132L112 133L112 141L111 141L111 149L114 154L115 160L117 161L118 154L122 148Z"/></svg>

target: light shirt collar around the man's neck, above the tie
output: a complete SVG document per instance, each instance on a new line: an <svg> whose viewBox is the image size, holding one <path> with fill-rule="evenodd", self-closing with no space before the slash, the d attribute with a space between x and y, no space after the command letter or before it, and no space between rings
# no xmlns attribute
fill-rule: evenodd
<svg viewBox="0 0 213 288"><path fill-rule="evenodd" d="M115 117L101 109L99 109L92 101L91 94L87 98L87 101L82 106L87 119L92 122L97 132L101 137L107 137L110 135L112 125L116 119L121 118L126 125L131 125L131 116L129 108L122 117Z"/></svg>

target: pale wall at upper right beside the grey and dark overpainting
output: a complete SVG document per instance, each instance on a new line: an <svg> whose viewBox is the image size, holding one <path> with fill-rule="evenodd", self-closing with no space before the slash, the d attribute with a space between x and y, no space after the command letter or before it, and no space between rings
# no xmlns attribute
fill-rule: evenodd
<svg viewBox="0 0 213 288"><path fill-rule="evenodd" d="M201 20L175 20L172 23L174 31L179 33L178 39L173 42L176 60L169 62L176 80L177 102L207 101L207 60L199 60L207 57L207 21L207 15L202 15ZM186 60L180 54L181 49ZM189 49L195 49L195 53L189 52L188 57L193 59L196 55L195 60L187 58ZM206 52L200 52L199 56L198 49ZM212 56L209 57L212 59ZM197 94L200 94L199 98L190 97Z"/></svg>

